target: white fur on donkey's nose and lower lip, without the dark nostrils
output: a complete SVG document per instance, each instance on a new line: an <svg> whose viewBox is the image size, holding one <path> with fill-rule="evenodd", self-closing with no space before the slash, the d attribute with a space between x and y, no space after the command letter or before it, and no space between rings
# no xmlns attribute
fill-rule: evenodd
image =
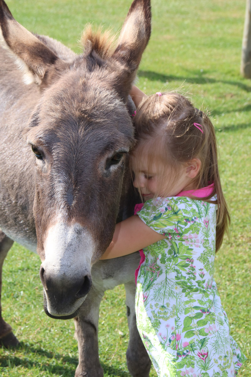
<svg viewBox="0 0 251 377"><path fill-rule="evenodd" d="M46 276L51 279L58 291L64 291L75 281L91 276L91 259L96 251L91 234L80 224L68 225L58 222L49 228L44 244L45 260L41 264ZM61 303L60 313L55 309L58 305L44 289L47 299L47 310L53 316L66 316L74 313L84 302L85 297L71 298Z"/></svg>

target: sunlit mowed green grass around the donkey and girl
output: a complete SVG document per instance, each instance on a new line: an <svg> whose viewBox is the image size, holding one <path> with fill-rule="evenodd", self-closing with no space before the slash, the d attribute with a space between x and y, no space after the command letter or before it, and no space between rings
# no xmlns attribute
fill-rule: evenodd
<svg viewBox="0 0 251 377"><path fill-rule="evenodd" d="M118 32L130 0L8 1L14 17L30 31L50 35L76 52L87 22ZM245 2L239 0L153 0L152 37L138 71L146 93L179 90L211 113L216 128L231 237L216 256L215 279L233 337L251 376L251 81L239 74ZM0 349L3 377L74 376L78 347L73 320L47 317L42 307L40 259L15 244L3 271L3 317L21 341ZM100 308L99 352L104 374L129 376L123 287L107 291ZM152 369L151 377L156 376Z"/></svg>

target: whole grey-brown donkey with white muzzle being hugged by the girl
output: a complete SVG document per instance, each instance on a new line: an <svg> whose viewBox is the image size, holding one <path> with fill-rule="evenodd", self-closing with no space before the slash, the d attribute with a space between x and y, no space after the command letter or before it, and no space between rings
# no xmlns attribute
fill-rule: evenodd
<svg viewBox="0 0 251 377"><path fill-rule="evenodd" d="M99 258L136 201L127 170L134 145L128 95L151 33L150 0L134 0L116 48L87 28L81 55L24 29L3 0L0 26L0 283L13 241L37 251L46 314L75 321L75 377L103 376L99 304L106 289L125 284L128 370L146 377L151 362L134 310L138 253ZM18 344L2 316L0 339Z"/></svg>

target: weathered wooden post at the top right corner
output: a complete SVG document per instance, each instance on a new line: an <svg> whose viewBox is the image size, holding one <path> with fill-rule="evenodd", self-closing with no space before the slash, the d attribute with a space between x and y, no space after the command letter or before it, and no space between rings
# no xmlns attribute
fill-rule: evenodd
<svg viewBox="0 0 251 377"><path fill-rule="evenodd" d="M246 0L240 73L246 78L251 78L251 0Z"/></svg>

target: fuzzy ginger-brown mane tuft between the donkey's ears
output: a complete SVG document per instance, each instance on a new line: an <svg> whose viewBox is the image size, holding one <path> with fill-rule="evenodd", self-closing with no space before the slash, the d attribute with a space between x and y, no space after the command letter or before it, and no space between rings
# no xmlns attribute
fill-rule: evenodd
<svg viewBox="0 0 251 377"><path fill-rule="evenodd" d="M115 35L111 30L102 30L99 26L97 30L93 30L91 24L87 24L81 36L81 45L85 54L96 52L102 59L109 58L114 53Z"/></svg>

